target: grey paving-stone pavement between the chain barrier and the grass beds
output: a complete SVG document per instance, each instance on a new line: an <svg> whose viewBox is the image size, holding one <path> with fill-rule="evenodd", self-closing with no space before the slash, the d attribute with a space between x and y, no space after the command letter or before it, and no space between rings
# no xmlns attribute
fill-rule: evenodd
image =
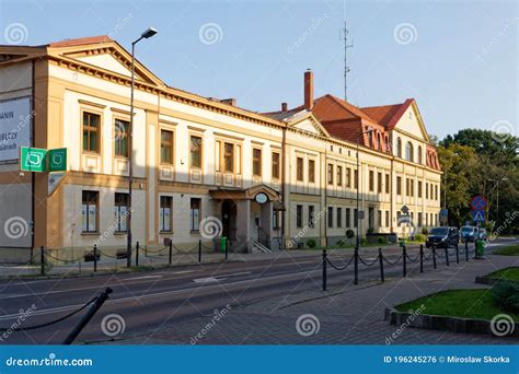
<svg viewBox="0 0 519 374"><path fill-rule="evenodd" d="M346 285L331 284L326 293L314 284L314 289L296 290L282 297L232 306L214 324L212 316L200 317L111 343L189 344L198 335L198 344L384 344L397 329L383 319L385 307L441 290L488 288L476 284L475 277L514 265L519 265L519 257L489 255L483 260L454 262L448 268L441 265L436 271L415 271L405 279L387 279L385 283L361 279L360 284L353 285L349 279ZM320 325L319 331L308 337L296 328L297 319L304 314L314 315ZM311 329L311 323L307 327ZM391 343L517 344L519 341L410 327Z"/></svg>

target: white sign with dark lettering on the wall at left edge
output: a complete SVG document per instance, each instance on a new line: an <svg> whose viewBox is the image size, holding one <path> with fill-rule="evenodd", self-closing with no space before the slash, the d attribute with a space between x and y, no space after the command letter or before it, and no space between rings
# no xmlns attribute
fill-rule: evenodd
<svg viewBox="0 0 519 374"><path fill-rule="evenodd" d="M31 145L31 98L0 101L0 161L16 161Z"/></svg>

